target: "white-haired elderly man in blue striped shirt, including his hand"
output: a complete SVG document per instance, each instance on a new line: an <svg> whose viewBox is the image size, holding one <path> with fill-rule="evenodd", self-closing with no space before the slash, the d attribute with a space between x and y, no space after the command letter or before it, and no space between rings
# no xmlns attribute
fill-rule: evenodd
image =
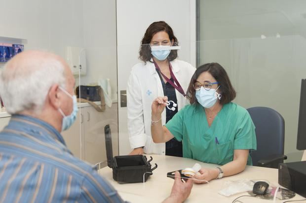
<svg viewBox="0 0 306 203"><path fill-rule="evenodd" d="M60 134L76 119L74 86L67 63L51 53L26 51L5 65L0 95L12 117L0 132L0 203L123 202ZM183 202L191 187L177 177L165 202Z"/></svg>

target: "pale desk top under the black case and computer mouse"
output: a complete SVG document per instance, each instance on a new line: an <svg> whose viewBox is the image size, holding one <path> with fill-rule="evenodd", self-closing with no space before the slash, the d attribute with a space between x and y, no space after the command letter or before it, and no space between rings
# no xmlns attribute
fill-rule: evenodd
<svg viewBox="0 0 306 203"><path fill-rule="evenodd" d="M158 167L153 171L153 175L151 175L145 183L118 184L115 180L113 180L112 169L109 167L99 170L99 173L115 187L119 195L125 201L129 201L131 203L160 203L170 195L174 182L173 179L166 176L168 172L184 169L186 167L192 167L194 163L199 163L204 168L212 168L217 166L215 164L207 164L181 157L156 154L146 156L148 159L150 159L150 156L152 156L152 166L154 163L156 163ZM271 186L277 186L278 170L247 166L246 169L240 174L212 180L210 183L206 184L194 184L191 190L191 195L187 199L186 203L231 203L235 198L241 195L248 195L248 193L243 192L237 195L225 197L218 194L218 191L223 189L228 181L244 179L267 180ZM296 194L296 196L290 200L301 199L305 198ZM243 203L273 203L273 201L262 200L255 197L242 197L239 200ZM284 201L285 200L277 200L276 203L282 203Z"/></svg>

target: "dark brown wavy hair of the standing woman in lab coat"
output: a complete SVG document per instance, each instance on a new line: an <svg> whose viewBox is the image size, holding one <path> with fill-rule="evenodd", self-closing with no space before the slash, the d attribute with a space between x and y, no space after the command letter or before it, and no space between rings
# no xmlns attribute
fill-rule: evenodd
<svg viewBox="0 0 306 203"><path fill-rule="evenodd" d="M146 33L141 40L141 45L139 49L139 59L144 61L145 63L147 61L153 62L151 61L152 54L151 54L150 42L153 38L153 35L160 31L165 31L168 33L170 41L173 41L172 46L179 45L178 39L174 36L172 28L166 22L157 21L157 22L152 23L149 26L149 28L146 30ZM168 56L168 60L172 61L177 57L178 57L177 50L171 50Z"/></svg>

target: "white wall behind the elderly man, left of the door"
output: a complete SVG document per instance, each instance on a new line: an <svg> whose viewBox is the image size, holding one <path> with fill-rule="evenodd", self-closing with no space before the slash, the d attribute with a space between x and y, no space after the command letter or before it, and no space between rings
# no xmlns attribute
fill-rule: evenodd
<svg viewBox="0 0 306 203"><path fill-rule="evenodd" d="M84 47L87 75L81 84L110 78L116 98L115 0L0 0L0 36L27 39L25 49L66 57L67 46ZM78 80L76 81L76 84Z"/></svg>

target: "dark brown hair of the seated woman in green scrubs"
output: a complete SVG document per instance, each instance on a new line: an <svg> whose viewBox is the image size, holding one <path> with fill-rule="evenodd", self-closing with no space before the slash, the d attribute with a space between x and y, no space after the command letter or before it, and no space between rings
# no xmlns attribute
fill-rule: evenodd
<svg viewBox="0 0 306 203"><path fill-rule="evenodd" d="M190 103L198 103L195 97L195 89L193 88L193 84L196 82L197 78L201 75L201 73L205 71L208 71L216 79L218 85L220 86L219 90L222 95L220 99L220 104L223 105L231 102L236 97L236 91L230 83L227 72L219 63L206 63L204 65L199 66L191 77L191 81L186 93Z"/></svg>

